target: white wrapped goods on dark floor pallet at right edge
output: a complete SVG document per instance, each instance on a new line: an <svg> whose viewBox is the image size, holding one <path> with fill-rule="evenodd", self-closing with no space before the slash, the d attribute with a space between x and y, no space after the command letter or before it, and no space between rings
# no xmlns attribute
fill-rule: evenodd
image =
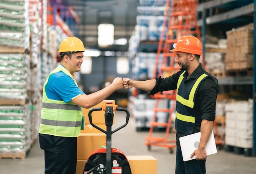
<svg viewBox="0 0 256 174"><path fill-rule="evenodd" d="M227 152L252 156L253 101L230 101L225 104L225 144Z"/></svg>

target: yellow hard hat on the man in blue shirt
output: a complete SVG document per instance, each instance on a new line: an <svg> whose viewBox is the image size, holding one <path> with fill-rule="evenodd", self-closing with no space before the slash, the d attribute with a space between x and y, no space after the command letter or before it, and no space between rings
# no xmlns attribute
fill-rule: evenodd
<svg viewBox="0 0 256 174"><path fill-rule="evenodd" d="M85 51L83 42L77 37L67 37L61 41L59 53L70 52L76 53L79 51Z"/></svg>

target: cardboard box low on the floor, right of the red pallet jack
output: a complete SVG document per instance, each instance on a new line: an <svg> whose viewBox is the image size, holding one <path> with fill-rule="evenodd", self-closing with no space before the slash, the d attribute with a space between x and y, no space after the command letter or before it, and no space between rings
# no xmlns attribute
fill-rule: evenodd
<svg viewBox="0 0 256 174"><path fill-rule="evenodd" d="M157 159L150 155L126 156L132 174L157 174Z"/></svg>

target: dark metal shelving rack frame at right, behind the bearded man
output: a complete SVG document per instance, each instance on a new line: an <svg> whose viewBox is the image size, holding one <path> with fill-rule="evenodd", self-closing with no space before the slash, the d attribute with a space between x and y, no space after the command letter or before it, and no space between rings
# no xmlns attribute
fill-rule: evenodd
<svg viewBox="0 0 256 174"><path fill-rule="evenodd" d="M225 11L218 14L213 14L214 9L220 7ZM201 18L198 19L198 26L201 27L203 51L205 52L205 35L206 27L214 24L222 24L221 26L232 27L239 23L248 24L254 22L254 29L256 28L256 0L199 0L198 13ZM207 14L208 12L208 14ZM229 24L229 25L227 25ZM254 64L256 67L256 32L254 30ZM253 86L253 147L252 156L256 156L256 69L253 68L252 76L244 77L222 77L218 78L218 84L220 86L225 85L252 85Z"/></svg>

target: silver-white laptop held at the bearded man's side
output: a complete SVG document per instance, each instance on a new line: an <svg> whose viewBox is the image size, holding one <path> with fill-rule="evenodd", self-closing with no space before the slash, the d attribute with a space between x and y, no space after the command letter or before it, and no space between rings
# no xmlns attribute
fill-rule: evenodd
<svg viewBox="0 0 256 174"><path fill-rule="evenodd" d="M201 132L180 137L180 147L181 147L183 161L189 161L189 160L195 159L195 155L192 158L190 158L190 156L194 152L194 150L198 148L200 136L201 136ZM206 144L205 150L207 155L217 153L217 147L216 147L213 131L211 132L211 136Z"/></svg>

